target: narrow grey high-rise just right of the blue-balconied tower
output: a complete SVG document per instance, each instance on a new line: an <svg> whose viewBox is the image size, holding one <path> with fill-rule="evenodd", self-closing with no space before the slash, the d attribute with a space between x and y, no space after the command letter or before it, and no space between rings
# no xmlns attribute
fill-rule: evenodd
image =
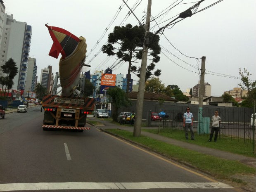
<svg viewBox="0 0 256 192"><path fill-rule="evenodd" d="M28 57L28 72L27 72L27 78L26 78L26 87L24 92L33 92L36 88L36 77L37 73L37 66L36 66L36 59Z"/></svg>

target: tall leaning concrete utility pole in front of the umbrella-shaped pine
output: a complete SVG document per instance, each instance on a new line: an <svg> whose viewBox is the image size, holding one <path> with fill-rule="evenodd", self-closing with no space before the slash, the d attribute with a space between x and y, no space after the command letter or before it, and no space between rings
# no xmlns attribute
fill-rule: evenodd
<svg viewBox="0 0 256 192"><path fill-rule="evenodd" d="M145 78L147 69L147 49L149 44L149 27L150 27L150 16L151 16L151 0L147 2L147 18L145 25L145 37L143 43L142 61L140 67L140 83L137 95L137 109L136 109L136 121L133 130L133 136L139 137L141 133L141 121L142 121L142 111L144 102L144 90L145 90Z"/></svg>

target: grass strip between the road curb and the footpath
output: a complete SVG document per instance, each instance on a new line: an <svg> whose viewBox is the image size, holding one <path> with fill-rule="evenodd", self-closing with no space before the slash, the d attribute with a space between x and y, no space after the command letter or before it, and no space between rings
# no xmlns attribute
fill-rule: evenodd
<svg viewBox="0 0 256 192"><path fill-rule="evenodd" d="M207 171L218 179L231 180L237 183L241 183L241 180L233 178L232 175L256 174L256 168L244 165L239 161L217 158L215 156L184 149L182 147L167 144L165 142L154 140L145 136L133 137L133 133L125 130L111 129L107 131L124 137L128 140L140 143L158 153L167 155L174 159L178 159L179 161L186 162L187 164L190 164L201 171Z"/></svg>

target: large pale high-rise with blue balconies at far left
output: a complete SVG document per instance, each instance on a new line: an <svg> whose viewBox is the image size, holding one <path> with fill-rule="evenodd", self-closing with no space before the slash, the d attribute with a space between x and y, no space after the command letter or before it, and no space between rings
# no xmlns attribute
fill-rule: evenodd
<svg viewBox="0 0 256 192"><path fill-rule="evenodd" d="M12 14L4 14L2 22L3 27L1 26L2 28L0 28L0 31L2 31L0 66L12 58L18 67L18 73L13 79L14 85L12 89L24 90L26 87L32 27L25 22L16 21L13 19ZM2 74L2 76L4 75Z"/></svg>

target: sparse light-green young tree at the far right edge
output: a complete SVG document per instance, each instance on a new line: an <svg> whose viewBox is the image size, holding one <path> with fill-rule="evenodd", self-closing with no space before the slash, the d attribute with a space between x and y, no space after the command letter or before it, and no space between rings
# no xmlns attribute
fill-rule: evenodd
<svg viewBox="0 0 256 192"><path fill-rule="evenodd" d="M251 74L245 68L244 68L244 72L242 72L242 69L239 68L239 75L241 76L242 83L239 83L238 85L243 90L248 90L247 97L244 101L242 101L241 106L242 107L253 107L254 106L254 111L255 111L256 81L249 80L249 76Z"/></svg>

